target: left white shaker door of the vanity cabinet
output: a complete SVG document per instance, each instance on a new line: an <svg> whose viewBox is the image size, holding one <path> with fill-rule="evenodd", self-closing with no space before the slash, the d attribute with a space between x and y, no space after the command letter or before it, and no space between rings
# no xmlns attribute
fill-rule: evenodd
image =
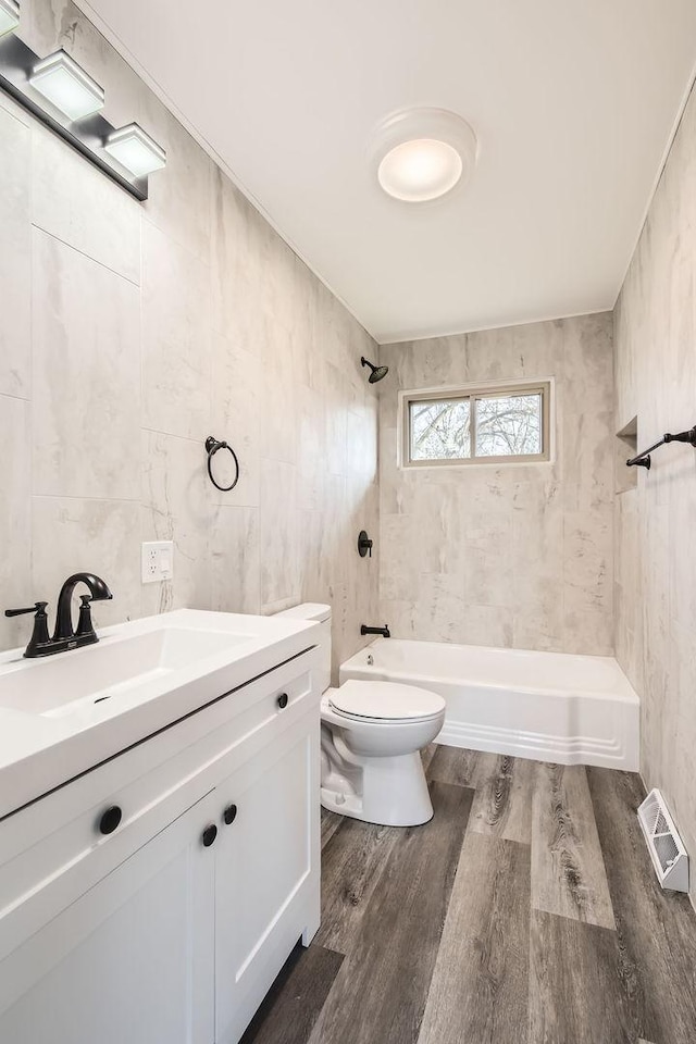
<svg viewBox="0 0 696 1044"><path fill-rule="evenodd" d="M0 964L3 1044L212 1044L211 798Z"/></svg>

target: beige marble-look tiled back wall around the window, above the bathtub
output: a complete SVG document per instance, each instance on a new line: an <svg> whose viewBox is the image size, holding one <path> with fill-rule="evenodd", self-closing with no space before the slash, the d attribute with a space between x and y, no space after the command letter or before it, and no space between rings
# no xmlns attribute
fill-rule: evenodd
<svg viewBox="0 0 696 1044"><path fill-rule="evenodd" d="M381 614L395 634L612 651L611 337L604 313L381 349ZM548 463L398 467L399 389L546 377Z"/></svg>

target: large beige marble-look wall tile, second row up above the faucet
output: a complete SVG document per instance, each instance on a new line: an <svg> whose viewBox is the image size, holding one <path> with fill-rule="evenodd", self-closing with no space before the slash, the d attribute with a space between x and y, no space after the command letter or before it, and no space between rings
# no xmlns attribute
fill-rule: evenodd
<svg viewBox="0 0 696 1044"><path fill-rule="evenodd" d="M140 496L138 288L34 232L34 493Z"/></svg>

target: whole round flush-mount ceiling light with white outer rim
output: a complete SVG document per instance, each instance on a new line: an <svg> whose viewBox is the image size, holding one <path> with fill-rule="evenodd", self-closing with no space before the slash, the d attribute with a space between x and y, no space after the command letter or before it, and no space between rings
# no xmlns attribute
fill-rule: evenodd
<svg viewBox="0 0 696 1044"><path fill-rule="evenodd" d="M411 109L389 116L373 139L377 182L388 196L421 203L464 184L477 144L461 116L444 109Z"/></svg>

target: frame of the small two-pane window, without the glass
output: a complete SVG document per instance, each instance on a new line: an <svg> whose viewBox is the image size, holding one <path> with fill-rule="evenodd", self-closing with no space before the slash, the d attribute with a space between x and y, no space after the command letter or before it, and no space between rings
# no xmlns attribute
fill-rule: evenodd
<svg viewBox="0 0 696 1044"><path fill-rule="evenodd" d="M499 457L475 457L476 439L476 419L475 403L476 398L496 395L527 395L540 394L542 396L542 452L526 453L519 456L499 456ZM449 399L471 399L470 432L471 432L471 457L446 458L443 460L412 460L411 459L411 431L410 431L410 403L411 402L438 402ZM398 439L397 453L398 465L403 469L422 468L469 468L472 464L476 468L483 467L517 467L519 464L547 464L555 459L555 382L554 377L539 377L536 381L496 381L481 382L475 384L456 385L453 387L437 388L412 388L410 390L399 391L398 406Z"/></svg>

